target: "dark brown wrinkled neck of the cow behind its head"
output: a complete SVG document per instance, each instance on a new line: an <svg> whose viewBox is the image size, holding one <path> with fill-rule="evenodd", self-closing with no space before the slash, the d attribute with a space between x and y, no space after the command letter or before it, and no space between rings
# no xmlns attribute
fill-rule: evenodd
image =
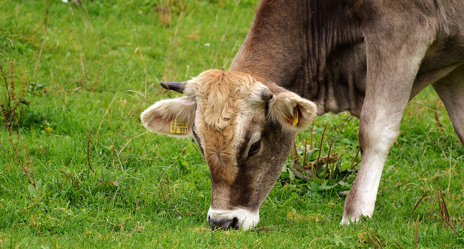
<svg viewBox="0 0 464 249"><path fill-rule="evenodd" d="M360 6L340 2L263 0L230 70L316 102L318 115L357 115L366 64Z"/></svg>

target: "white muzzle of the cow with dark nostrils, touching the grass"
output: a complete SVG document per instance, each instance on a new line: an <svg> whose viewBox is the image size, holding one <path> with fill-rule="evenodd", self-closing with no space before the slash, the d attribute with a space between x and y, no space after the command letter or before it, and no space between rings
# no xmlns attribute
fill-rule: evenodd
<svg viewBox="0 0 464 249"><path fill-rule="evenodd" d="M248 230L255 227L259 222L259 211L252 212L242 208L235 210L208 211L208 224L213 229L243 229Z"/></svg>

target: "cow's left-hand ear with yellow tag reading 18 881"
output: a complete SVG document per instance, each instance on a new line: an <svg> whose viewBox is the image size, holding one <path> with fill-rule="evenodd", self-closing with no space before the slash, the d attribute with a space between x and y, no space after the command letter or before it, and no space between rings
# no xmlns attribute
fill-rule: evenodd
<svg viewBox="0 0 464 249"><path fill-rule="evenodd" d="M148 107L140 119L149 131L176 137L192 134L197 103L187 96L165 99Z"/></svg>

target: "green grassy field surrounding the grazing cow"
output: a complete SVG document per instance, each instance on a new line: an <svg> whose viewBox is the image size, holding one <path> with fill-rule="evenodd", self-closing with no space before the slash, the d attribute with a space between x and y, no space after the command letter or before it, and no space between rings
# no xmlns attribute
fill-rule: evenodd
<svg viewBox="0 0 464 249"><path fill-rule="evenodd" d="M227 69L258 1L81 2L0 0L0 62L7 84L14 63L16 96L25 87L29 102L18 103L13 128L25 146L0 130L0 248L413 248L416 228L417 248L464 248L464 148L430 88L406 109L371 220L339 227L338 192L349 181L318 188L287 170L257 229L212 231L211 182L197 148L146 133L139 115L177 96L160 81ZM316 148L326 122L322 155L333 139L332 153L350 167L359 160L359 121L347 113L318 117ZM33 172L37 190L13 158ZM440 212L437 186L449 223L433 211Z"/></svg>

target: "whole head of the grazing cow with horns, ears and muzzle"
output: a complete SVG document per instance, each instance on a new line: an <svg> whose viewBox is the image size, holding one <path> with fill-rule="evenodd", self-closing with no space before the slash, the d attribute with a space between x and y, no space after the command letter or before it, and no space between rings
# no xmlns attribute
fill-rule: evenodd
<svg viewBox="0 0 464 249"><path fill-rule="evenodd" d="M185 96L150 106L142 113L143 125L156 133L193 136L211 175L211 226L254 227L296 132L311 124L316 105L241 72L207 70L186 82L161 85ZM173 133L179 123L187 126L184 134Z"/></svg>

